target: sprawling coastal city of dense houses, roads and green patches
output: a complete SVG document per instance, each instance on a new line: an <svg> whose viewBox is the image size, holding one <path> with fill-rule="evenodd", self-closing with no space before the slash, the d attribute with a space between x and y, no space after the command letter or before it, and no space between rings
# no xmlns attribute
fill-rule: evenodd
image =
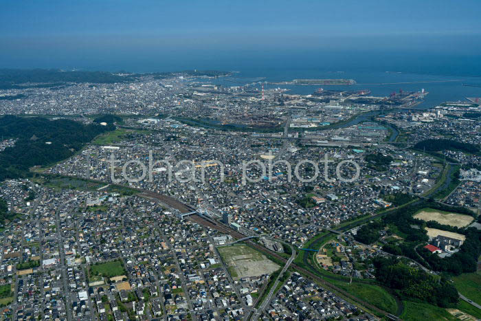
<svg viewBox="0 0 481 321"><path fill-rule="evenodd" d="M460 285L481 250L481 123L463 116L478 104L300 95L228 85L228 73L115 76L0 91L16 97L0 101L9 121L100 133L58 162L3 166L5 320L479 315ZM62 131L0 127L8 155L63 144ZM396 288L393 269L416 281Z"/></svg>

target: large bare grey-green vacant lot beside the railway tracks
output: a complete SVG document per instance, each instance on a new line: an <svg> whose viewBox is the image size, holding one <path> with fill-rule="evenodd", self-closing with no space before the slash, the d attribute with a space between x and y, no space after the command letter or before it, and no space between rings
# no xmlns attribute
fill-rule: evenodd
<svg viewBox="0 0 481 321"><path fill-rule="evenodd" d="M232 278L271 274L279 266L247 245L231 245L218 248Z"/></svg>

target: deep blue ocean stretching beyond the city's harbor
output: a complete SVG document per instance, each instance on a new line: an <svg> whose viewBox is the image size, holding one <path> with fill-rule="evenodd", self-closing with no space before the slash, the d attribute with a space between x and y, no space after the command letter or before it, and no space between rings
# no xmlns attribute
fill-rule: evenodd
<svg viewBox="0 0 481 321"><path fill-rule="evenodd" d="M481 97L481 54L462 55L452 52L197 50L177 54L166 52L161 55L142 52L142 58L137 59L131 55L115 53L108 58L97 56L78 60L75 65L69 61L63 67L144 73L186 69L237 71L229 82L217 80L226 86L260 81L260 78L267 82L295 78L346 78L355 80L357 85L324 86L324 89L369 89L374 96L389 96L400 89L425 89L429 94L417 108L426 109L445 101ZM48 66L41 64L34 67L60 67L52 63L54 62L51 61ZM56 64L62 63L57 61ZM281 87L291 89L290 93L309 94L320 86Z"/></svg>

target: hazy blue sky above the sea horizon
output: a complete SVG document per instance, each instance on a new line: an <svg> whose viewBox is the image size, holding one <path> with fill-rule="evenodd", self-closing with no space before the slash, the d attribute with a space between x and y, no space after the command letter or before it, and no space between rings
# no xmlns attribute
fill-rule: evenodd
<svg viewBox="0 0 481 321"><path fill-rule="evenodd" d="M1 2L0 67L260 52L478 55L481 1Z"/></svg>

